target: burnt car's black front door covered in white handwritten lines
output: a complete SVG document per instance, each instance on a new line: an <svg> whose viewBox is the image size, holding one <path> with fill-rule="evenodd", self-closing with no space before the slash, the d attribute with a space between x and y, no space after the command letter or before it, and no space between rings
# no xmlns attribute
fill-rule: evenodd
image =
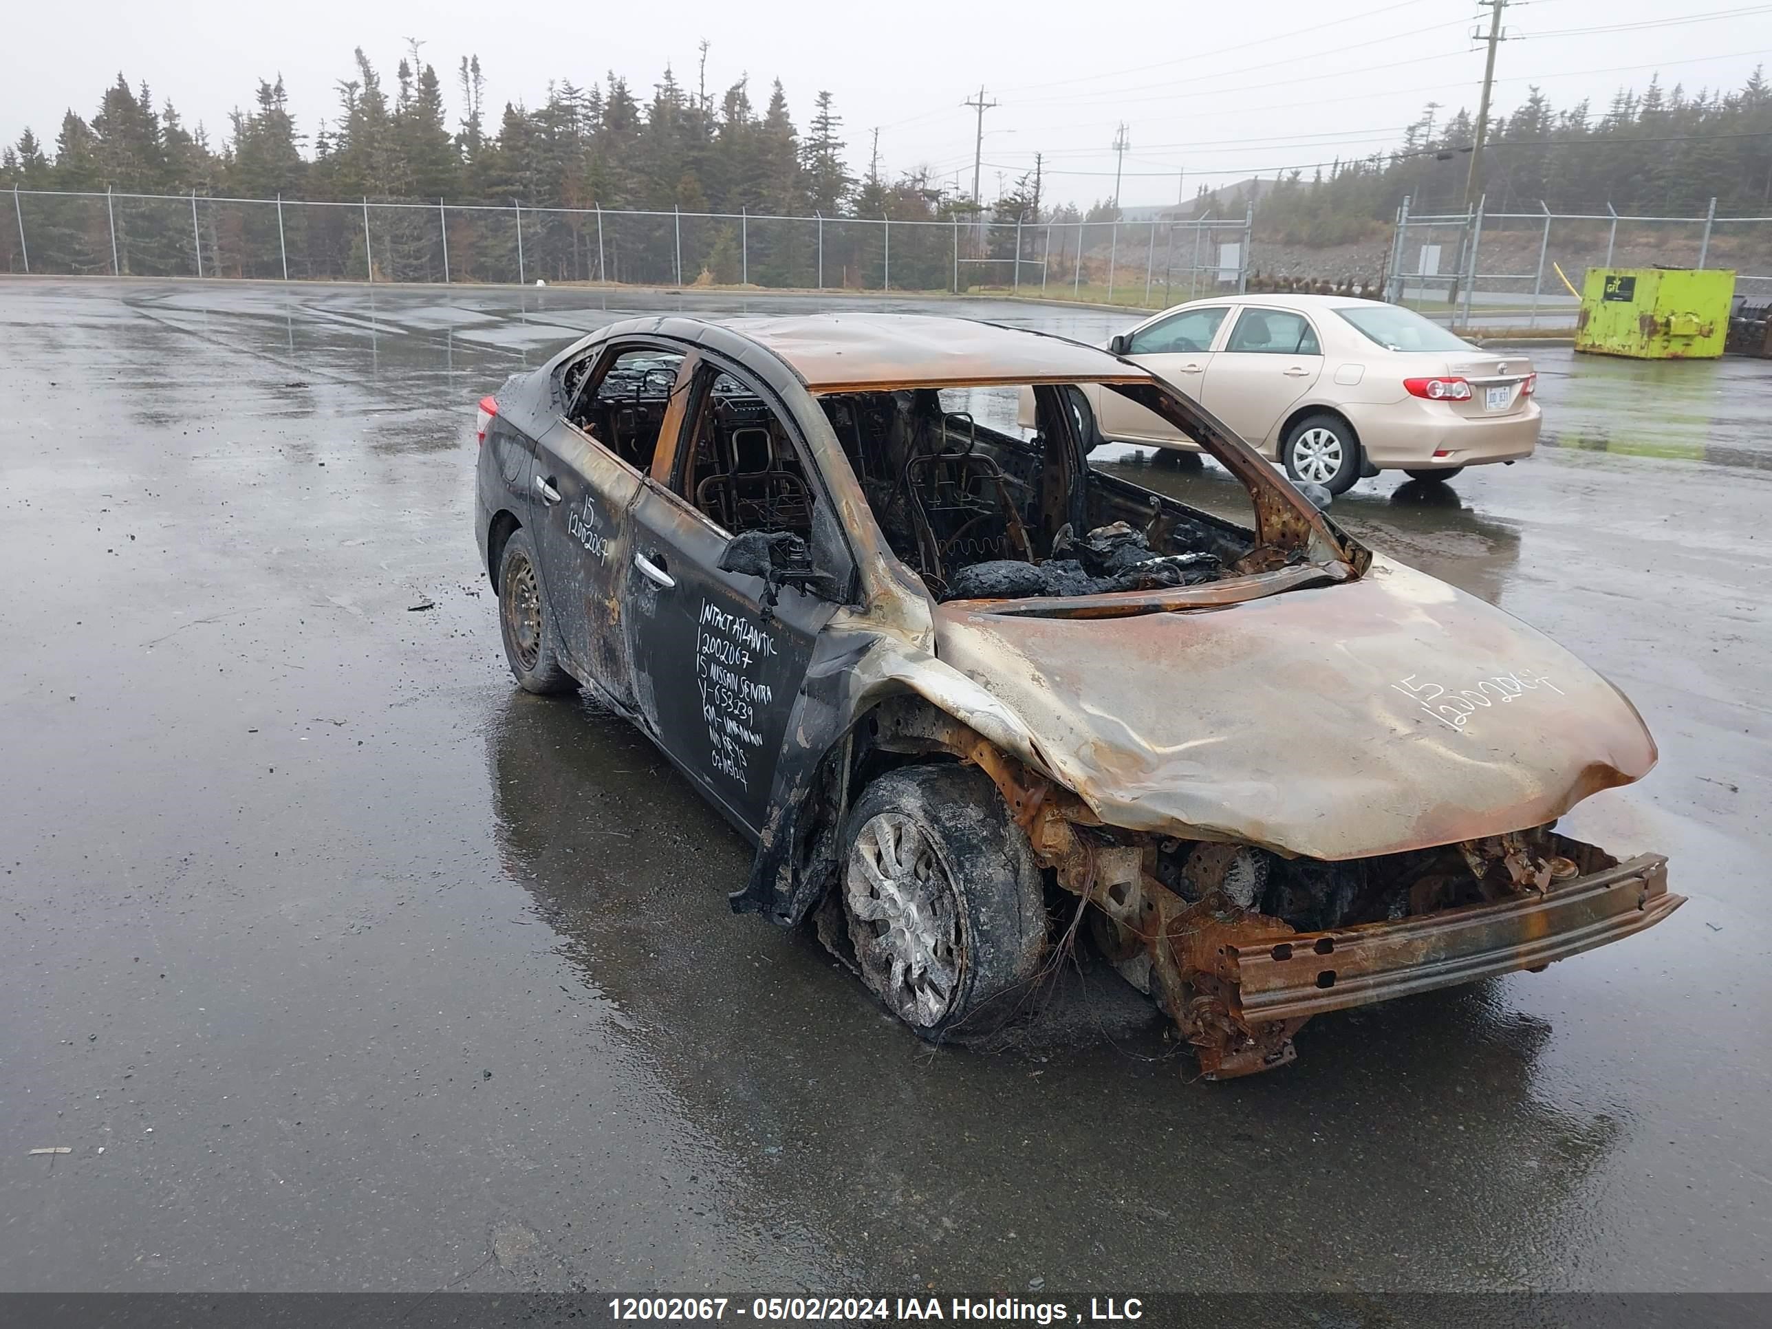
<svg viewBox="0 0 1772 1329"><path fill-rule="evenodd" d="M626 567L641 723L753 835L813 641L852 567L803 439L771 402L735 367L700 363L675 455L634 503ZM739 546L773 548L804 567L783 569L785 583L728 571ZM824 594L806 585L812 576Z"/></svg>

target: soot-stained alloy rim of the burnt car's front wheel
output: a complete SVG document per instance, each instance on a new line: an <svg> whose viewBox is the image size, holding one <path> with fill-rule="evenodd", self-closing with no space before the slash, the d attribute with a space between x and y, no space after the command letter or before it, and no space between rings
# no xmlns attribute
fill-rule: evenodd
<svg viewBox="0 0 1772 1329"><path fill-rule="evenodd" d="M923 828L902 813L870 817L843 877L856 960L868 985L909 1024L930 1028L960 980L959 904Z"/></svg>

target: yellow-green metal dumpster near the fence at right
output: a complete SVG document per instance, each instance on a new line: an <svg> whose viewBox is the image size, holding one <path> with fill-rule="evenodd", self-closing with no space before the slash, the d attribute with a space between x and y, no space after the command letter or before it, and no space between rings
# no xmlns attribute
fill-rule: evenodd
<svg viewBox="0 0 1772 1329"><path fill-rule="evenodd" d="M1589 268L1575 349L1636 360L1715 360L1735 273L1715 268Z"/></svg>

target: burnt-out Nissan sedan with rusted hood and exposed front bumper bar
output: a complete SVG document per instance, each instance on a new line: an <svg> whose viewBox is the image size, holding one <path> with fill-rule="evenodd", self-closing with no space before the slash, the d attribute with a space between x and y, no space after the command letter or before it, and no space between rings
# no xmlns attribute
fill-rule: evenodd
<svg viewBox="0 0 1772 1329"><path fill-rule="evenodd" d="M1246 514L1090 468L1084 385L1198 439ZM1244 1076L1311 1015L1683 902L1664 858L1554 829L1655 764L1613 684L1129 360L959 319L641 319L512 377L478 434L517 682L643 728L757 845L732 907L813 921L925 1038L1014 1021L1086 932Z"/></svg>

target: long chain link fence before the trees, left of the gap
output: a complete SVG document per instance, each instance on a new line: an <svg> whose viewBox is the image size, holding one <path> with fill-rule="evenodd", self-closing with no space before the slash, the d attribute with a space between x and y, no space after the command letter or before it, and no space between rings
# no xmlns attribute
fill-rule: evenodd
<svg viewBox="0 0 1772 1329"><path fill-rule="evenodd" d="M1242 291L1253 214L897 222L12 190L0 271L317 282L966 291L1162 307Z"/></svg>

